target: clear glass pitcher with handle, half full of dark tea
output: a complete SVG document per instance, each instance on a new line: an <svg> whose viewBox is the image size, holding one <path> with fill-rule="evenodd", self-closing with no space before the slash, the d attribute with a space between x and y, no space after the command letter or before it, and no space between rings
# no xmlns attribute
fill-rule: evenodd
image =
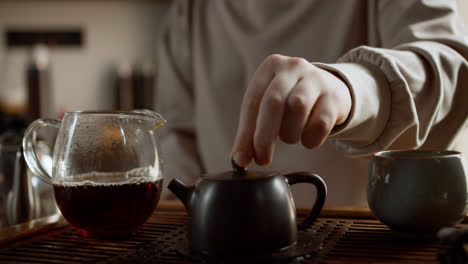
<svg viewBox="0 0 468 264"><path fill-rule="evenodd" d="M67 112L63 120L38 119L23 139L25 160L51 183L55 200L79 234L122 237L149 218L160 198L163 177L155 132L166 120L149 110ZM39 129L58 129L52 175L36 152Z"/></svg>

